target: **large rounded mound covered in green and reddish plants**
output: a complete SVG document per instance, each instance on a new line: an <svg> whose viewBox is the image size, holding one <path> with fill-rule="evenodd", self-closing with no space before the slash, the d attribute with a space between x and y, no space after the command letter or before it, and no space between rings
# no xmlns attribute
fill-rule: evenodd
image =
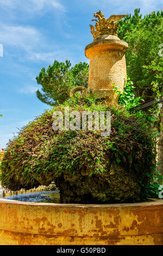
<svg viewBox="0 0 163 256"><path fill-rule="evenodd" d="M111 135L54 131L53 111L111 111ZM64 202L140 202L155 170L151 133L142 118L87 97L46 111L9 142L1 182L11 190L55 181Z"/></svg>

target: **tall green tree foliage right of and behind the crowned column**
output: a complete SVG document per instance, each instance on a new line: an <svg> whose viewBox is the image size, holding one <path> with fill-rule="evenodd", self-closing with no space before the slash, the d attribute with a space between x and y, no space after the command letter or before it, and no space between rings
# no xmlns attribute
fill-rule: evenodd
<svg viewBox="0 0 163 256"><path fill-rule="evenodd" d="M143 69L145 65L160 62L159 45L163 38L163 11L140 15L135 9L134 15L127 16L120 22L118 37L129 44L126 52L127 73L136 87L136 96L148 100L155 96L151 83L157 70Z"/></svg>

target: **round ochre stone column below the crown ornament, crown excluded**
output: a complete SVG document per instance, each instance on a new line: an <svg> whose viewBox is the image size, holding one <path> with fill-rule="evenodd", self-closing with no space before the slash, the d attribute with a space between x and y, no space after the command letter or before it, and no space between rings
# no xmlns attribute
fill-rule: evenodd
<svg viewBox="0 0 163 256"><path fill-rule="evenodd" d="M127 47L127 42L115 35L100 35L85 47L85 56L90 59L89 89L112 89L115 84L123 92ZM113 92L107 100L117 103L118 95Z"/></svg>

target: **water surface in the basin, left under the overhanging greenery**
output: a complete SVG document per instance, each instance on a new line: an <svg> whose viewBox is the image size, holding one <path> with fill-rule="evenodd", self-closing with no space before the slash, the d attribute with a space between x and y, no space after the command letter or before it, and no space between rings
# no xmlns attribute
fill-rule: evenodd
<svg viewBox="0 0 163 256"><path fill-rule="evenodd" d="M35 203L60 203L59 191L41 191L33 193L23 193L14 196L5 196L5 199L17 200L23 202L35 202Z"/></svg>

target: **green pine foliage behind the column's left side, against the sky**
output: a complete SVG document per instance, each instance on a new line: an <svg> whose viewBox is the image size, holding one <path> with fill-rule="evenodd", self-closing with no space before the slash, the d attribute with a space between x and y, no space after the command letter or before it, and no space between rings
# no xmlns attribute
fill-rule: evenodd
<svg viewBox="0 0 163 256"><path fill-rule="evenodd" d="M76 86L87 87L89 65L78 63L71 68L70 61L58 62L49 65L47 70L42 68L36 77L38 84L42 86L42 92L37 90L36 95L44 103L54 106L68 99L70 90Z"/></svg>

